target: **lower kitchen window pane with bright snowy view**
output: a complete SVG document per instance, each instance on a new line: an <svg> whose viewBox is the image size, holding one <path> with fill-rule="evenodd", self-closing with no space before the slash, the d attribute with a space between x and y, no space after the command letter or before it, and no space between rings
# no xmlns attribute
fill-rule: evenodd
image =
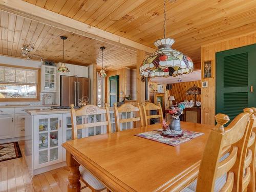
<svg viewBox="0 0 256 192"><path fill-rule="evenodd" d="M0 98L36 98L36 86L0 83Z"/></svg>

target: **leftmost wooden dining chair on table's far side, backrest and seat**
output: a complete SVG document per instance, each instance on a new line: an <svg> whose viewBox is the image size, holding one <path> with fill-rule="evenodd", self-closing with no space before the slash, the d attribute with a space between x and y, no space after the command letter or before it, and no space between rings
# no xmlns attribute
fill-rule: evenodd
<svg viewBox="0 0 256 192"><path fill-rule="evenodd" d="M111 125L110 125L110 113L109 113L109 107L107 104L105 104L105 109L100 109L96 105L85 105L79 110L74 109L74 104L71 104L71 124L72 124L72 139L77 139L77 130L94 127L94 126L104 126L106 125L106 132L110 133ZM106 121L102 122L92 122L92 123L86 123L83 122L83 124L76 124L76 117L77 116L88 116L88 115L104 115ZM93 192L98 192L101 190L104 190L106 187L98 180L96 179L88 169L86 169L83 166L79 166L79 171L81 173L80 180L86 184L86 186L82 187L81 189L85 187L89 187Z"/></svg>

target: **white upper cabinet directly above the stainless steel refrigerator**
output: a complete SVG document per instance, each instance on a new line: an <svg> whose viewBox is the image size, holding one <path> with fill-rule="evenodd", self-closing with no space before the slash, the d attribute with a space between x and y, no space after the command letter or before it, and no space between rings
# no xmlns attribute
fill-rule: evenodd
<svg viewBox="0 0 256 192"><path fill-rule="evenodd" d="M61 63L58 63L59 67ZM59 75L74 76L74 77L87 77L88 78L88 67L87 66L77 66L66 63L69 73L58 72Z"/></svg>

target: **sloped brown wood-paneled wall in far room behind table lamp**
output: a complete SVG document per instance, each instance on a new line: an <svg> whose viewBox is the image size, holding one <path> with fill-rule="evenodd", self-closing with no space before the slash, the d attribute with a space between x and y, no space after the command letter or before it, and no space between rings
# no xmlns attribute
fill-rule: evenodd
<svg viewBox="0 0 256 192"><path fill-rule="evenodd" d="M186 95L186 91L194 85L201 88L201 84L201 81L179 82L172 84L172 89L169 90L169 95L172 95L175 98L173 104L184 100L194 100L194 95ZM201 102L201 95L197 95L197 100Z"/></svg>

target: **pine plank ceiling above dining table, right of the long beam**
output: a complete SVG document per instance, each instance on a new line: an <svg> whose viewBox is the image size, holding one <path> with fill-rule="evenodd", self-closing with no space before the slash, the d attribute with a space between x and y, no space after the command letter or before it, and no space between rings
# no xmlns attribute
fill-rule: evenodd
<svg viewBox="0 0 256 192"><path fill-rule="evenodd" d="M24 0L154 47L163 37L163 0ZM166 3L167 37L200 61L200 46L256 30L255 0L178 0Z"/></svg>

